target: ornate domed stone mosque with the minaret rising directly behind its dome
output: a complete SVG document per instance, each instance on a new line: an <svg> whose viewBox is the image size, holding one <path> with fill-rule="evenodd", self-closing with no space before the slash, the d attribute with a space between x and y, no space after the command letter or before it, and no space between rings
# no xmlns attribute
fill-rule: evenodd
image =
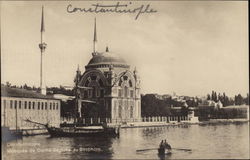
<svg viewBox="0 0 250 160"><path fill-rule="evenodd" d="M93 53L85 72L77 73L80 118L109 119L111 123L136 122L141 119L140 77L117 53L97 50L96 20Z"/></svg>

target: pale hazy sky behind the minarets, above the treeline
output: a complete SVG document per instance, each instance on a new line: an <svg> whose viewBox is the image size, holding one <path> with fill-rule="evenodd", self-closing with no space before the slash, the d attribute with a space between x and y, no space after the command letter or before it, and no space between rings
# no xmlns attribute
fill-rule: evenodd
<svg viewBox="0 0 250 160"><path fill-rule="evenodd" d="M98 51L124 57L141 77L143 94L200 96L248 93L247 1L136 1L156 13L68 13L97 1L1 1L1 83L39 86L41 6L45 20L46 86L72 86L79 64L92 57L94 18ZM115 1L98 1L103 5ZM120 1L128 4L129 1Z"/></svg>

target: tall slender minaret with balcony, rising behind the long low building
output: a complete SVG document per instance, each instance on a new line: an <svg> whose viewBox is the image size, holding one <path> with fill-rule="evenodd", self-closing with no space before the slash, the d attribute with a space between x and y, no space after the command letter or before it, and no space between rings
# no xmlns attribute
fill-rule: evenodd
<svg viewBox="0 0 250 160"><path fill-rule="evenodd" d="M41 43L39 44L39 48L41 50L41 63L40 63L40 89L41 93L46 95L46 86L44 80L44 65L43 65L43 54L45 52L47 44L44 42L44 15L43 15L43 7L42 7L42 20L41 20Z"/></svg>

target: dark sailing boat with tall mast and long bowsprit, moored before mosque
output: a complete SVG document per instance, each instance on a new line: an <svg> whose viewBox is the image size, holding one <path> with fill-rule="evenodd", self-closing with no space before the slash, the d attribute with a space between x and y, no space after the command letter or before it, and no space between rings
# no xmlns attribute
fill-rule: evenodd
<svg viewBox="0 0 250 160"><path fill-rule="evenodd" d="M108 136L108 137L117 137L120 133L120 126L115 127L108 127L106 123L103 123L102 125L98 126L77 126L77 110L78 110L78 101L85 103L95 103L94 101L90 100L82 100L79 96L79 89L88 89L89 87L82 87L78 86L80 80L80 72L79 67L77 70L76 78L74 80L75 82L75 109L74 109L74 124L73 126L68 127L51 127L49 124L42 124L39 122L34 122L29 119L25 120L30 123L43 125L48 133L53 137L79 137L79 136Z"/></svg>

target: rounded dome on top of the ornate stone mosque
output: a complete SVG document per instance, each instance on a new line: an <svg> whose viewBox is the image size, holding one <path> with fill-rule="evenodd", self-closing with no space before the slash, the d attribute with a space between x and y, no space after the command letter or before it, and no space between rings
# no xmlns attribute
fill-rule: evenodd
<svg viewBox="0 0 250 160"><path fill-rule="evenodd" d="M103 53L97 53L88 63L88 65L96 64L126 64L126 62L118 54L106 51Z"/></svg>

